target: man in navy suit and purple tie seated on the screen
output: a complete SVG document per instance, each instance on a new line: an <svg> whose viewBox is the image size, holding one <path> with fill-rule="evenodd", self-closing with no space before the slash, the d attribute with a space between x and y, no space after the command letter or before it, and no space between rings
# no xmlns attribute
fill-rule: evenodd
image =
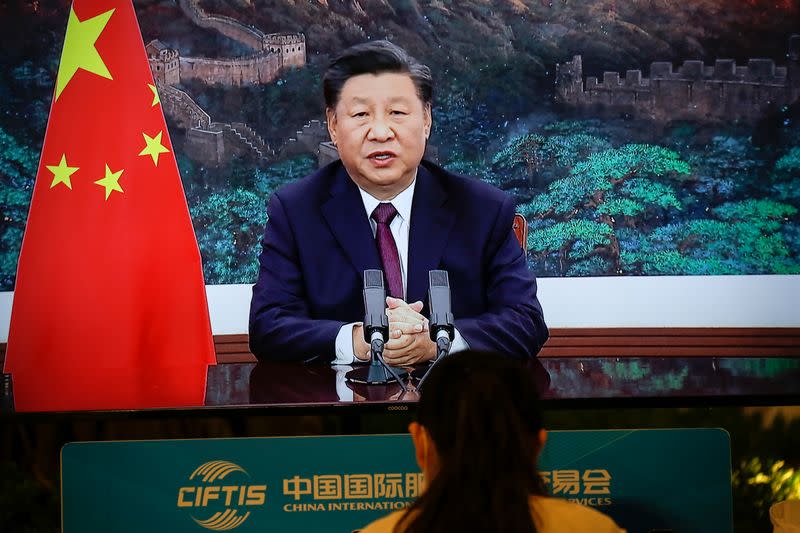
<svg viewBox="0 0 800 533"><path fill-rule="evenodd" d="M430 70L376 41L337 57L323 87L341 160L270 199L251 351L262 359L368 359L362 274L376 268L391 294L389 364L435 357L423 304L432 269L450 277L453 351L536 355L548 333L512 230L512 199L422 161L432 124Z"/></svg>

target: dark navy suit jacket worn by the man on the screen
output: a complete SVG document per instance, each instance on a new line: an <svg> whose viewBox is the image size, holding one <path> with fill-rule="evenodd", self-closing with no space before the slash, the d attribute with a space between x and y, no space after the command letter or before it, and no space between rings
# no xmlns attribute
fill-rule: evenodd
<svg viewBox="0 0 800 533"><path fill-rule="evenodd" d="M332 361L339 329L364 319L364 270L382 268L358 187L337 161L277 191L267 214L250 350L259 359ZM447 270L455 325L470 348L529 357L548 332L513 218L502 191L423 161L406 301L425 302L428 316L428 271Z"/></svg>

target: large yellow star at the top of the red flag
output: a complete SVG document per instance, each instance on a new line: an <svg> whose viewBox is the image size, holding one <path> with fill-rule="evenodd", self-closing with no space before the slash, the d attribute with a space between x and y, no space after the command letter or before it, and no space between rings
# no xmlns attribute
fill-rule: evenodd
<svg viewBox="0 0 800 533"><path fill-rule="evenodd" d="M78 20L75 9L70 8L67 35L64 37L64 50L61 52L61 64L56 78L56 100L64 88L72 80L79 68L92 72L103 78L113 79L103 58L97 53L94 43L108 24L114 10L106 11L96 17Z"/></svg>

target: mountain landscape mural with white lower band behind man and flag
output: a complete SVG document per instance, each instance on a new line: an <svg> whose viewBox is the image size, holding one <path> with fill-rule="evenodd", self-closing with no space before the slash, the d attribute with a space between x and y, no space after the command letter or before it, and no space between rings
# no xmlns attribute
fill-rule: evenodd
<svg viewBox="0 0 800 533"><path fill-rule="evenodd" d="M134 7L214 333L247 331L267 199L338 157L324 69L375 39L433 71L426 157L513 196L551 327L800 323L797 2ZM0 8L1 342L69 9Z"/></svg>

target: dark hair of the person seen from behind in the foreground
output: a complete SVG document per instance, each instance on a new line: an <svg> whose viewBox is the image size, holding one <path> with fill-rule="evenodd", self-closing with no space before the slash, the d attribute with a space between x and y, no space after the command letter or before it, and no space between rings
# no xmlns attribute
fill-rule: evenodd
<svg viewBox="0 0 800 533"><path fill-rule="evenodd" d="M470 350L440 361L417 408L439 469L395 531L535 532L529 497L545 494L538 403L519 361Z"/></svg>

